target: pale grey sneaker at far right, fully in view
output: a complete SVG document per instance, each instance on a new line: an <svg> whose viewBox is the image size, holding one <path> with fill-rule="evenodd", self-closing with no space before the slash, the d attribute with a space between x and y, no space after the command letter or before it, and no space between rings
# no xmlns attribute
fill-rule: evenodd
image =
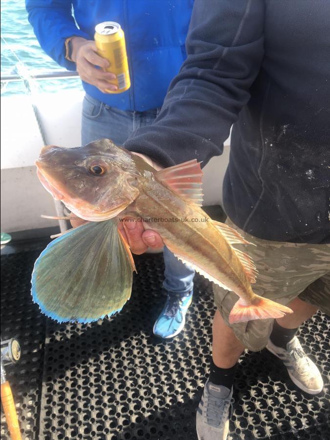
<svg viewBox="0 0 330 440"><path fill-rule="evenodd" d="M321 393L323 380L321 373L304 352L297 336L286 344L286 350L277 347L269 339L266 349L282 360L292 382L309 394Z"/></svg>

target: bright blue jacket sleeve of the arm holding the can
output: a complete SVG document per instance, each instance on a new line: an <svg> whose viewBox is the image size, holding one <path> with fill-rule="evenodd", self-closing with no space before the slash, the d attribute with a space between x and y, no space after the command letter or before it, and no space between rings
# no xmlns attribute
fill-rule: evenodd
<svg viewBox="0 0 330 440"><path fill-rule="evenodd" d="M90 39L75 24L69 0L25 0L28 20L44 51L60 66L76 70L65 58L65 41L74 35Z"/></svg>

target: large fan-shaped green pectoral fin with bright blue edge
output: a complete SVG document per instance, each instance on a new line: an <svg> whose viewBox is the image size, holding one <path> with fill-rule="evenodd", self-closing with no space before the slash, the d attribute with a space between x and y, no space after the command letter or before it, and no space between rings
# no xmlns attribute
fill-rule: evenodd
<svg viewBox="0 0 330 440"><path fill-rule="evenodd" d="M33 300L59 322L96 321L120 311L130 299L133 270L117 220L87 223L41 253L32 273Z"/></svg>

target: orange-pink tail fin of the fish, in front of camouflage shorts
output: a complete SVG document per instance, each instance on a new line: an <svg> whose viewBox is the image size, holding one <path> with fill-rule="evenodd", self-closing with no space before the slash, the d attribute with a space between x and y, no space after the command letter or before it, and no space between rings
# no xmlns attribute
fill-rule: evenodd
<svg viewBox="0 0 330 440"><path fill-rule="evenodd" d="M253 304L249 305L245 305L240 298L229 314L229 324L252 321L253 319L282 318L286 313L293 313L293 311L259 295L256 295Z"/></svg>

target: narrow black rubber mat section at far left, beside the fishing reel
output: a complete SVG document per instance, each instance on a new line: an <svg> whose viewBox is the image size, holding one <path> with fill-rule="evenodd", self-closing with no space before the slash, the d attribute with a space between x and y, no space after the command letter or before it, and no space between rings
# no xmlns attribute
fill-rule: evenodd
<svg viewBox="0 0 330 440"><path fill-rule="evenodd" d="M1 339L15 337L21 360L5 368L23 439L38 439L46 318L31 301L33 260L40 252L1 255ZM1 440L9 439L1 405Z"/></svg>

